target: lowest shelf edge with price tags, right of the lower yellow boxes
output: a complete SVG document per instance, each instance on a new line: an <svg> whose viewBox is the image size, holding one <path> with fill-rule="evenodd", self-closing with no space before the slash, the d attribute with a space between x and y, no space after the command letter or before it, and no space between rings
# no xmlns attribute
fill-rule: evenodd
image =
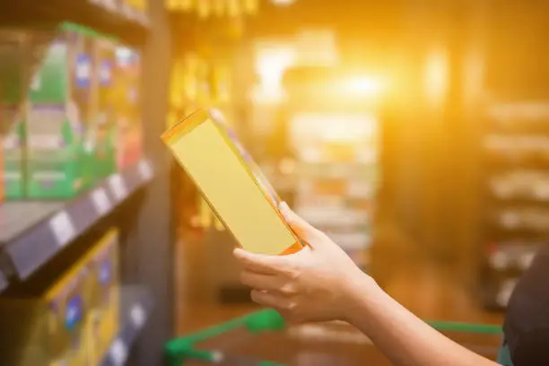
<svg viewBox="0 0 549 366"><path fill-rule="evenodd" d="M151 294L140 288L123 289L122 301L120 333L99 366L121 366L126 363L130 348L143 330L154 305Z"/></svg>

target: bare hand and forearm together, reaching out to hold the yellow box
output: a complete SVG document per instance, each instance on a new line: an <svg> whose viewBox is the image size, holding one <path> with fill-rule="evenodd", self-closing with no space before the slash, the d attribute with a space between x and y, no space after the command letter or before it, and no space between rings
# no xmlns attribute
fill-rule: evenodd
<svg viewBox="0 0 549 366"><path fill-rule="evenodd" d="M495 366L456 344L391 299L327 235L285 204L287 222L309 244L289 256L237 248L241 281L252 299L291 323L343 320L357 327L399 366Z"/></svg>

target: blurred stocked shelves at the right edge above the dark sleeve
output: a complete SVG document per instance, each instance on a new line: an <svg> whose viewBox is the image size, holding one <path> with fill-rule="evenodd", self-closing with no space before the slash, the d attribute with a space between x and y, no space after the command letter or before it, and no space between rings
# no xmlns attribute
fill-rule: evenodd
<svg viewBox="0 0 549 366"><path fill-rule="evenodd" d="M484 306L505 308L547 238L549 104L494 103L486 109L486 125L480 291Z"/></svg>

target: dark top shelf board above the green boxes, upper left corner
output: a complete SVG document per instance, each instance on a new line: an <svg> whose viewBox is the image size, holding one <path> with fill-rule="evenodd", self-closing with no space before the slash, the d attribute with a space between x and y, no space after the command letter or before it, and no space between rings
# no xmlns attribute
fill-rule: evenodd
<svg viewBox="0 0 549 366"><path fill-rule="evenodd" d="M130 43L144 43L149 20L118 0L19 0L5 4L0 20L16 26L74 22ZM3 8L3 9L4 9Z"/></svg>

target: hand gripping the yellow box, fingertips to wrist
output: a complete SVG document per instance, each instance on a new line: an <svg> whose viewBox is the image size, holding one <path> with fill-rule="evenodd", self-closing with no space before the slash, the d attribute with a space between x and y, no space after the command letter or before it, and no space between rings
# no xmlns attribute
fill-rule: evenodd
<svg viewBox="0 0 549 366"><path fill-rule="evenodd" d="M313 228L288 205L280 207L292 229L309 247L287 256L265 256L237 248L243 265L242 283L253 290L252 300L276 309L291 322L345 320L355 292L373 280L342 248Z"/></svg>

